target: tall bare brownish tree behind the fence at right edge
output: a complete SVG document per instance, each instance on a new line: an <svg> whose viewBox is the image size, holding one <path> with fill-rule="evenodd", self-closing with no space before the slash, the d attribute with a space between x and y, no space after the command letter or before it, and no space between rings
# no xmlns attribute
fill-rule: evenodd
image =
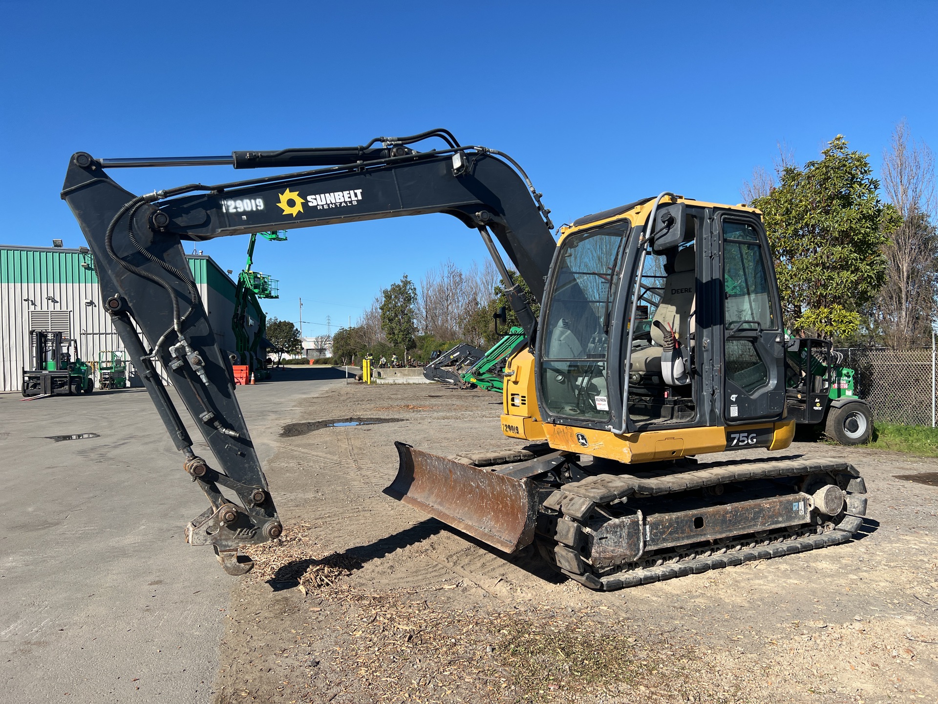
<svg viewBox="0 0 938 704"><path fill-rule="evenodd" d="M885 343L922 344L938 313L938 233L934 155L903 119L883 153L883 189L901 223L883 248L886 283L874 312Z"/></svg>

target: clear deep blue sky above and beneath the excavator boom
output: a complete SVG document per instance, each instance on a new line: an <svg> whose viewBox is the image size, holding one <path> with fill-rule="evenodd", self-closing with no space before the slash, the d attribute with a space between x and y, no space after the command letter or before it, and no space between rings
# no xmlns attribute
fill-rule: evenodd
<svg viewBox="0 0 938 704"><path fill-rule="evenodd" d="M777 142L877 168L894 125L938 148L938 3L0 2L0 242L83 237L68 157L364 144L445 127L520 161L554 222L675 191L737 203ZM129 191L245 172L113 171ZM388 283L487 254L444 215L258 244L269 314L353 322ZM200 244L236 272L247 237Z"/></svg>

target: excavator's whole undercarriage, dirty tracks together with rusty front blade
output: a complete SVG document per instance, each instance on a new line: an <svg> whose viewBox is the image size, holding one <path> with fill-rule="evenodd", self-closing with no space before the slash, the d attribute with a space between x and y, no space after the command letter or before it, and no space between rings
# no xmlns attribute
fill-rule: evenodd
<svg viewBox="0 0 938 704"><path fill-rule="evenodd" d="M859 472L837 460L628 467L541 443L518 455L530 459L476 467L397 446L401 468L386 494L507 553L534 543L590 589L844 543L867 508Z"/></svg>

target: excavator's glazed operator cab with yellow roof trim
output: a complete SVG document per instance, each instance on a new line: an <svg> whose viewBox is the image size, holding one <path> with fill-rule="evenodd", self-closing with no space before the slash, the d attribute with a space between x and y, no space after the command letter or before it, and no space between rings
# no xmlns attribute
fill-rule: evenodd
<svg viewBox="0 0 938 704"><path fill-rule="evenodd" d="M685 436L676 458L711 451L724 427L755 421L763 427L746 446L780 448L790 435L784 336L758 213L671 201L600 213L562 233L537 343L544 422L618 430L597 444L619 461L640 461L618 450L646 432L712 429Z"/></svg>

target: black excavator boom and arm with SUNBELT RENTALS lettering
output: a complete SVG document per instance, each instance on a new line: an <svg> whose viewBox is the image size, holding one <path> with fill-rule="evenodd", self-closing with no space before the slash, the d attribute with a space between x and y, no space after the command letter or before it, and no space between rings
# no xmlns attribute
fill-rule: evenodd
<svg viewBox="0 0 938 704"><path fill-rule="evenodd" d="M446 147L416 151L409 146L429 137L443 139ZM126 191L107 173L219 164L313 168L145 195ZM489 235L494 234L537 300L555 247L550 211L521 167L492 149L461 146L446 130L378 138L365 146L234 152L231 157L108 160L78 152L68 163L62 198L95 255L114 327L176 449L184 454L184 468L208 498L210 506L191 521L187 540L212 545L229 574L243 574L252 566L238 555L239 545L277 538L282 526L234 395L232 360L216 343L182 240L446 213L479 231L508 283L507 267ZM509 289L507 298L534 339L536 320L520 289ZM192 450L161 374L204 436L216 467Z"/></svg>

